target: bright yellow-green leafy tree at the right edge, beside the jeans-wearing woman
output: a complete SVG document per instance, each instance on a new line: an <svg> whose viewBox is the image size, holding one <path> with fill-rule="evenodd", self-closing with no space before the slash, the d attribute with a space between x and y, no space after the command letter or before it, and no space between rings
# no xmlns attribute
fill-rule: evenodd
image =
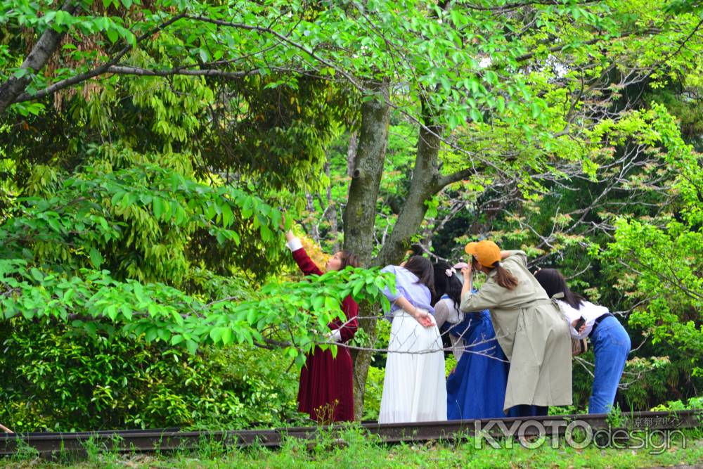
<svg viewBox="0 0 703 469"><path fill-rule="evenodd" d="M640 121L641 122L641 121ZM619 286L638 304L631 323L652 336L654 343L676 344L700 375L703 346L703 172L701 156L676 139L671 118L659 117L643 139L657 139L669 152L666 163L677 176L670 212L654 220L617 219L614 240L603 253ZM621 266L626 266L623 272Z"/></svg>

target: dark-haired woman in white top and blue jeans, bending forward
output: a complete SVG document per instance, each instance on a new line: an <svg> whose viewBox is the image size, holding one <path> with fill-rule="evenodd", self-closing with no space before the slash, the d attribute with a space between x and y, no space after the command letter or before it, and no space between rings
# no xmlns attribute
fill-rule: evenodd
<svg viewBox="0 0 703 469"><path fill-rule="evenodd" d="M625 328L606 307L586 301L581 295L572 292L567 282L556 269L541 269L534 274L549 297L559 293L560 309L571 325L573 338L591 339L595 354L593 389L588 401L588 413L608 413L615 400L617 385L630 353L630 337ZM575 327L579 319L585 321L579 330Z"/></svg>

